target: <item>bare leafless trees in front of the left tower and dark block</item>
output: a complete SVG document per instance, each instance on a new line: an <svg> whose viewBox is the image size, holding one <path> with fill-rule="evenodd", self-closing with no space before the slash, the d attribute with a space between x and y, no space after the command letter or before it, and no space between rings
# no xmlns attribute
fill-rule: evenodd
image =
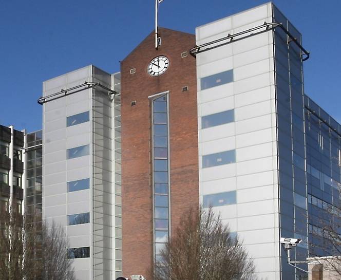
<svg viewBox="0 0 341 280"><path fill-rule="evenodd" d="M63 228L31 222L15 211L1 213L0 227L0 279L74 279Z"/></svg>

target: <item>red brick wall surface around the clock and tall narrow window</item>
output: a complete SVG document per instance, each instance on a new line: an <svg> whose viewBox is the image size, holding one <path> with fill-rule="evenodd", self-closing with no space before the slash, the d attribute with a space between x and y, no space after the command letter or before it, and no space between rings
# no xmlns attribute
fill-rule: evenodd
<svg viewBox="0 0 341 280"><path fill-rule="evenodd" d="M199 202L196 60L190 55L195 36L164 28L159 28L159 36L158 49L152 32L121 62L124 277L146 275L153 256L148 96L169 90L172 228L188 207ZM188 56L181 58L184 51ZM151 77L148 63L159 55L169 59L169 67ZM136 73L130 74L133 68ZM188 91L182 91L184 86Z"/></svg>

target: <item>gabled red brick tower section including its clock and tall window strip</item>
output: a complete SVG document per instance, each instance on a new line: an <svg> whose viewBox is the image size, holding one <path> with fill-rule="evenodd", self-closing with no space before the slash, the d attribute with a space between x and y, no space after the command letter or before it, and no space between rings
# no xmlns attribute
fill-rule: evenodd
<svg viewBox="0 0 341 280"><path fill-rule="evenodd" d="M199 202L195 36L158 31L121 62L123 275L144 275Z"/></svg>

